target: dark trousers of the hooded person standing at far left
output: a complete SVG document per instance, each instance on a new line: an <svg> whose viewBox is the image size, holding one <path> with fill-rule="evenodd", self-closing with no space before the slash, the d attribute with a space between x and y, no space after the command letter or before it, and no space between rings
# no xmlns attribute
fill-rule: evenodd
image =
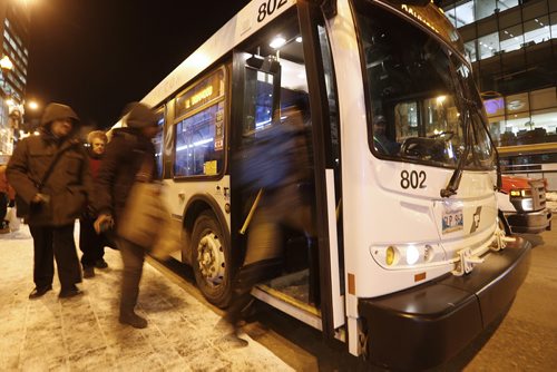
<svg viewBox="0 0 557 372"><path fill-rule="evenodd" d="M67 226L29 225L33 237L35 266L33 282L37 287L52 284L55 263L62 290L81 282L81 268L74 242L74 224Z"/></svg>

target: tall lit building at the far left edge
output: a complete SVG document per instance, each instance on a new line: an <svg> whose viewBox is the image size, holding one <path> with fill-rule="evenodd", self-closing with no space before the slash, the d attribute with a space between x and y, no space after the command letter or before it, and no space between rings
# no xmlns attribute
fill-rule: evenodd
<svg viewBox="0 0 557 372"><path fill-rule="evenodd" d="M13 136L18 136L22 120L29 63L29 26L27 1L0 1L0 155L11 154Z"/></svg>

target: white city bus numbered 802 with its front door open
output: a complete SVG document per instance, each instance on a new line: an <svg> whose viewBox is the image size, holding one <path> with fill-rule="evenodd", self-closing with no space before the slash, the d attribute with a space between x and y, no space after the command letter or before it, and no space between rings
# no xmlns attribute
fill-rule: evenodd
<svg viewBox="0 0 557 372"><path fill-rule="evenodd" d="M238 154L300 99L315 233L284 229L282 272L253 296L375 365L444 363L509 309L530 245L498 227L486 112L430 1L253 0L144 97L176 257L231 303L265 198L241 185Z"/></svg>

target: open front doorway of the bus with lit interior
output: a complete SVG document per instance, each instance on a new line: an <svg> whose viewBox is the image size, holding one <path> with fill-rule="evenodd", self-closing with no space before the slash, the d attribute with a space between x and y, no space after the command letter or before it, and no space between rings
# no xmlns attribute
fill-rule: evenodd
<svg viewBox="0 0 557 372"><path fill-rule="evenodd" d="M311 228L293 228L289 223L281 223L281 242L276 243L283 251L282 272L257 285L252 294L322 330L325 339L333 340L344 336L344 275L339 233L342 225L340 141L332 59L326 50L322 51L326 46L326 32L316 21L320 14L312 13L315 11L319 12L312 4L301 3L296 12L277 18L272 28L263 29L234 52L233 160L229 163L232 231L237 232L233 234L233 245L245 249L253 218L271 197L264 187L246 187L243 182L247 172L245 165L252 164L253 159L242 155L257 154L250 149L268 140L266 133L292 120L289 108L305 106L306 112L301 117L311 182L310 185L300 185L300 188L304 197L311 199ZM299 17L305 18L306 22L299 22ZM304 29L301 30L299 25ZM287 40L280 48L270 47L268 40L278 33L286 36ZM302 39L314 41L301 42ZM283 156L287 156L287 151L284 149ZM257 156L274 157L280 167L281 154L267 151ZM292 208L289 218L296 219L297 213L303 212ZM243 257L238 258L238 264L242 261Z"/></svg>

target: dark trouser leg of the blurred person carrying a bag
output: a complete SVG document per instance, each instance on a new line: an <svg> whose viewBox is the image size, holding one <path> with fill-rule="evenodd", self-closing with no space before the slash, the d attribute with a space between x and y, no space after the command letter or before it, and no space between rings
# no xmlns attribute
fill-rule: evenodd
<svg viewBox="0 0 557 372"><path fill-rule="evenodd" d="M120 314L134 312L139 295L139 281L143 274L145 248L123 238L117 241L124 263L121 278Z"/></svg>

